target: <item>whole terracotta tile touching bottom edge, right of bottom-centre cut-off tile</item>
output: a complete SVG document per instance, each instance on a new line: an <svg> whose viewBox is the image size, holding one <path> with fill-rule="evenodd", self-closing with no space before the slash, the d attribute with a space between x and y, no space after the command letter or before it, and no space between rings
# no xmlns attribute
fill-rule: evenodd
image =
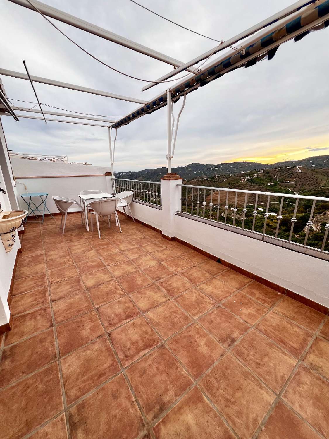
<svg viewBox="0 0 329 439"><path fill-rule="evenodd" d="M199 385L240 437L250 439L275 399L260 381L230 354Z"/></svg>

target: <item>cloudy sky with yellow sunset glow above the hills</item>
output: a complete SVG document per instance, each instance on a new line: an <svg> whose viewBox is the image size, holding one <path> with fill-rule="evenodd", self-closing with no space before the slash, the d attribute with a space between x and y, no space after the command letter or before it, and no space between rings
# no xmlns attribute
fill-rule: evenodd
<svg viewBox="0 0 329 439"><path fill-rule="evenodd" d="M150 14L129 0L44 1L181 61L193 59L216 45ZM228 40L288 6L292 0L140 0L140 3L197 32ZM1 68L25 72L22 63L25 59L31 75L143 100L150 100L166 89L166 84L160 84L142 92L144 83L93 60L36 12L8 0L0 0L0 10ZM56 24L86 50L133 76L152 80L172 69L161 61L64 23ZM272 61L238 69L189 94L179 124L172 166L238 160L274 163L329 154L328 46L329 29L313 32L299 43L283 44ZM1 79L9 98L35 102L27 81L8 76ZM137 107L131 102L40 83L35 83L35 87L41 102L73 111L118 119ZM180 100L174 107L176 114L181 103ZM8 147L14 151L63 154L72 162L109 164L106 128L1 119ZM114 170L165 166L166 129L166 108L120 128Z"/></svg>

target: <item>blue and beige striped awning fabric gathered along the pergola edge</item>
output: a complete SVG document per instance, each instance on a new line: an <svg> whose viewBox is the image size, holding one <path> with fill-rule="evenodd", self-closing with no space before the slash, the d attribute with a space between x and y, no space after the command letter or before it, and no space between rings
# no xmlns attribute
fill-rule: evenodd
<svg viewBox="0 0 329 439"><path fill-rule="evenodd" d="M212 68L209 68L207 71L200 73L200 75L194 76L190 78L189 81L182 84L181 86L172 90L172 101L178 101L179 97L182 94L190 93L195 90L199 86L204 86L207 83L210 83L214 79L221 77L227 68L231 68L230 71L234 69L234 65L236 68L239 67L250 67L251 65L256 64L257 61L263 59L264 56L267 56L268 60L272 59L279 48L280 40L284 37L291 35L293 32L297 32L303 29L305 26L310 25L312 22L318 20L318 18L325 17L325 15L329 14L329 0L323 2L322 4L316 6L311 11L304 12L299 17L295 18L291 22L277 29L275 32L269 33L264 38L261 38L256 43L251 44L246 47L245 53L241 53L239 51L236 54L232 55L229 58L226 58L220 64L215 65ZM315 26L314 30L323 29L329 25L329 20L323 23L323 26ZM295 41L301 40L304 36L306 36L310 31L307 30L305 32L301 32L298 36L295 37ZM284 42L285 40L282 40ZM273 44L277 43L275 47L270 48L265 54L263 53L263 49L269 47ZM261 56L259 52L262 52ZM255 55L253 58L252 55ZM245 63L241 65L241 61L249 58ZM167 104L167 93L164 93L163 96L159 97L156 101L150 102L144 107L139 108L136 112L131 113L129 116L126 116L123 119L118 120L112 125L112 128L117 129L122 125L127 125L132 120L140 117L143 114L150 114L159 108L164 107Z"/></svg>

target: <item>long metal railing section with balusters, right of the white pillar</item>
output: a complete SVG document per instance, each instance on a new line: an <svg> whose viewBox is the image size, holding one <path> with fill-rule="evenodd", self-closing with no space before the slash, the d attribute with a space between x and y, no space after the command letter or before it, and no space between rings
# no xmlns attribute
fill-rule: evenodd
<svg viewBox="0 0 329 439"><path fill-rule="evenodd" d="M182 187L180 212L186 216L329 252L329 198L177 186Z"/></svg>

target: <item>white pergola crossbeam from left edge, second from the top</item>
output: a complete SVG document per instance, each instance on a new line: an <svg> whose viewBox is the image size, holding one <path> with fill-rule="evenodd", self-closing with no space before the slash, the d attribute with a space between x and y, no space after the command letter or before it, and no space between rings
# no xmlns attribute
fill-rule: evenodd
<svg viewBox="0 0 329 439"><path fill-rule="evenodd" d="M25 73L14 72L12 70L6 70L5 68L0 68L0 75L11 76L12 78L27 79L29 81L29 76ZM146 104L146 101L141 99L136 99L134 97L121 96L119 94L108 93L107 91L94 90L93 88L82 87L79 85L63 83L60 81L55 81L54 79L41 78L40 76L32 76L33 82L38 82L42 84L54 85L56 87L68 88L70 90L83 91L84 93L97 94L99 96L111 97L113 99L120 99L121 101L136 102L137 104Z"/></svg>

